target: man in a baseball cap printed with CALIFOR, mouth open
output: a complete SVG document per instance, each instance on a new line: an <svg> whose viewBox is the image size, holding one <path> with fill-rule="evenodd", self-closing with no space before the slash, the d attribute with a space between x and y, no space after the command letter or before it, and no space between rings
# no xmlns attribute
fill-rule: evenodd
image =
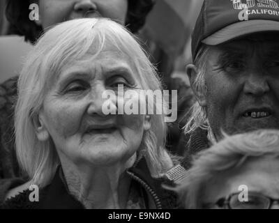
<svg viewBox="0 0 279 223"><path fill-rule="evenodd" d="M197 102L185 126L189 156L223 132L279 129L278 0L204 0L192 54L186 71Z"/></svg>

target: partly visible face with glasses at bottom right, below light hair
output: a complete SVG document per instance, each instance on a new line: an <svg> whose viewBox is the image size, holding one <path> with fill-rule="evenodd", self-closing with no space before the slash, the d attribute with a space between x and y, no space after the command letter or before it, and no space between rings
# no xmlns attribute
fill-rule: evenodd
<svg viewBox="0 0 279 223"><path fill-rule="evenodd" d="M209 208L209 203L217 203L231 196L230 208L262 209L279 208L278 202L272 205L269 198L279 199L279 160L274 157L259 157L248 160L232 171L218 174L214 180L206 183L202 203ZM221 202L222 203L222 202ZM228 206L211 206L212 208L228 208Z"/></svg>

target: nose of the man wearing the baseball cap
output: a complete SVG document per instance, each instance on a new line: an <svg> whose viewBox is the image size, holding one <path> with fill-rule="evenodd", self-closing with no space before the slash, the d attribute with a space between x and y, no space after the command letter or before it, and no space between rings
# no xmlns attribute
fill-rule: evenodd
<svg viewBox="0 0 279 223"><path fill-rule="evenodd" d="M254 70L250 72L246 77L244 84L244 93L252 94L255 96L264 95L264 93L269 91L269 84L267 82L264 72L260 70Z"/></svg>

